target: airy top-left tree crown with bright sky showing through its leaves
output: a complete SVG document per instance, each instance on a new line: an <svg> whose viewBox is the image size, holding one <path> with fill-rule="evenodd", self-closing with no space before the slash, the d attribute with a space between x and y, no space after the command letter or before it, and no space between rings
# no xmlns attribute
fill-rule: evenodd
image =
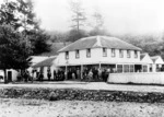
<svg viewBox="0 0 164 117"><path fill-rule="evenodd" d="M10 24L15 30L38 30L32 0L4 1L0 7L0 24Z"/></svg>

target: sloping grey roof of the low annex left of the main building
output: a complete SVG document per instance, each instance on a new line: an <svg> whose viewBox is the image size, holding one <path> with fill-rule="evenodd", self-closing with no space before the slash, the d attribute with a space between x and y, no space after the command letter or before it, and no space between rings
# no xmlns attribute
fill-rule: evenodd
<svg viewBox="0 0 164 117"><path fill-rule="evenodd" d="M52 62L54 60L56 59L57 57L50 57L50 58L47 58L36 65L33 66L33 68L38 68L38 67L50 67L52 66Z"/></svg>

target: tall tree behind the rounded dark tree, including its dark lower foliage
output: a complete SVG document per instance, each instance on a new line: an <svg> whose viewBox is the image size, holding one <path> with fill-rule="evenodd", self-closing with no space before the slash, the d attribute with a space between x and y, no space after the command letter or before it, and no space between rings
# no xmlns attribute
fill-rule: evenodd
<svg viewBox="0 0 164 117"><path fill-rule="evenodd" d="M32 0L5 1L0 7L0 14L2 15L0 24L12 25L23 33L24 38L30 39L34 55L49 50L50 45L47 43L49 36L39 27Z"/></svg>

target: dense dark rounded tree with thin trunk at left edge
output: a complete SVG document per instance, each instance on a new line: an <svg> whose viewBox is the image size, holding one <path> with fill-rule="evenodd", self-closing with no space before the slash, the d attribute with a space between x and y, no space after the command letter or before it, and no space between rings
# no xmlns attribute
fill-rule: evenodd
<svg viewBox="0 0 164 117"><path fill-rule="evenodd" d="M0 25L0 69L4 70L7 83L7 69L26 69L30 66L32 47L28 39L16 32L11 25Z"/></svg>

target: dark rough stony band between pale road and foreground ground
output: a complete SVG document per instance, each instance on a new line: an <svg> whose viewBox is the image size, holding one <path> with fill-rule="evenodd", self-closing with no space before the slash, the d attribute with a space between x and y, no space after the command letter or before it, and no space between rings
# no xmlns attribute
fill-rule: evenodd
<svg viewBox="0 0 164 117"><path fill-rule="evenodd" d="M93 91L73 89L0 89L0 97L4 98L36 98L49 101L107 101L107 102L137 102L163 103L163 93L141 93L126 91Z"/></svg>

